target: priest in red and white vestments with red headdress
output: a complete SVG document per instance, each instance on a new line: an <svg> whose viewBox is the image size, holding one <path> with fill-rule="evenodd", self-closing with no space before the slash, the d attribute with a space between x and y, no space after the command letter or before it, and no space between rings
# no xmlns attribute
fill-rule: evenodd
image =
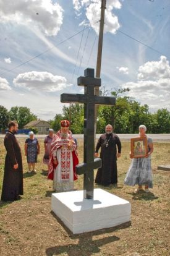
<svg viewBox="0 0 170 256"><path fill-rule="evenodd" d="M77 164L79 164L77 146L69 130L69 121L62 120L61 130L57 132L51 143L49 158L48 179L53 180L54 190L62 192L74 189Z"/></svg>

